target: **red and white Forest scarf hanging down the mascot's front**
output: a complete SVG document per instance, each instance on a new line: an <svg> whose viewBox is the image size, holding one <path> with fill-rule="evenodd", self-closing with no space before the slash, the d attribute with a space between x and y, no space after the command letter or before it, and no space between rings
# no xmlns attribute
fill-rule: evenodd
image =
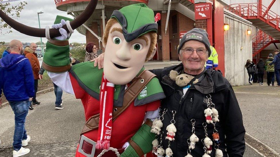
<svg viewBox="0 0 280 157"><path fill-rule="evenodd" d="M112 112L114 105L115 85L106 80L102 75L100 87L100 119L98 126L97 149L109 149L112 134Z"/></svg>

